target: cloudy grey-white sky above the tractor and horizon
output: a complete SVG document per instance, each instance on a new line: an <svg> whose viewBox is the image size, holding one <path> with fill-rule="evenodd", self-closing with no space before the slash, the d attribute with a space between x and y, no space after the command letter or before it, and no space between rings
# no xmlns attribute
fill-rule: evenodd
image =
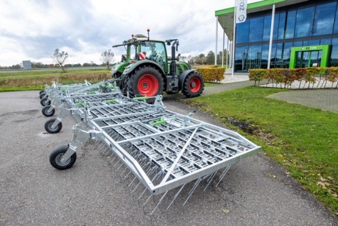
<svg viewBox="0 0 338 226"><path fill-rule="evenodd" d="M182 55L207 54L215 51L215 11L234 6L235 0L0 0L0 66L52 64L56 48L68 52L66 64L101 64L109 49L119 61L124 48L112 46L147 28L153 38L178 38ZM220 51L219 25L218 31Z"/></svg>

